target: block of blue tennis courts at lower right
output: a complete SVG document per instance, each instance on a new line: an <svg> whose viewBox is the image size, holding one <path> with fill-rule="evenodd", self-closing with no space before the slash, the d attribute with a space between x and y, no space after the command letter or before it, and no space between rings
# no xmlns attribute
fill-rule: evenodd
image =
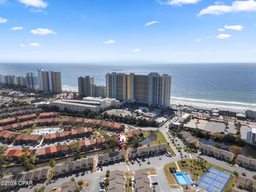
<svg viewBox="0 0 256 192"><path fill-rule="evenodd" d="M209 192L221 192L226 187L231 174L211 167L197 182L197 186Z"/></svg>

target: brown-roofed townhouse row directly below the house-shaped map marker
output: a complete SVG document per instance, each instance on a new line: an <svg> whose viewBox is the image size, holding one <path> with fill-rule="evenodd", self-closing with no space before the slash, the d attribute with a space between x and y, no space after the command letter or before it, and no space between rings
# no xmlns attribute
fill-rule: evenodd
<svg viewBox="0 0 256 192"><path fill-rule="evenodd" d="M108 165L110 163L120 162L125 160L125 150L112 151L106 154L99 154L98 164Z"/></svg>

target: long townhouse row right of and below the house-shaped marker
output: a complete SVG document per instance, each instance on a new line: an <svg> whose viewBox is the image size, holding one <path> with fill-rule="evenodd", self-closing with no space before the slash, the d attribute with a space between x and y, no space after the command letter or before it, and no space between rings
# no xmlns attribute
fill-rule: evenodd
<svg viewBox="0 0 256 192"><path fill-rule="evenodd" d="M163 154L165 151L167 151L167 144L161 143L159 145L152 145L152 146L142 146L139 148L134 148L129 151L129 158L135 158L135 157L144 157L144 156L150 156L150 155L159 155Z"/></svg>

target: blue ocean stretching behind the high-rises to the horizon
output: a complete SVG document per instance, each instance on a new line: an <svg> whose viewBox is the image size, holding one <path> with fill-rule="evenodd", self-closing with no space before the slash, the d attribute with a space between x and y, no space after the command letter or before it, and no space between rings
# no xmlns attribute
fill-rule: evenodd
<svg viewBox="0 0 256 192"><path fill-rule="evenodd" d="M26 71L59 70L63 90L78 90L77 77L90 75L106 85L106 73L169 74L171 100L256 108L256 65L251 63L207 64L67 64L1 63L1 75L25 76Z"/></svg>

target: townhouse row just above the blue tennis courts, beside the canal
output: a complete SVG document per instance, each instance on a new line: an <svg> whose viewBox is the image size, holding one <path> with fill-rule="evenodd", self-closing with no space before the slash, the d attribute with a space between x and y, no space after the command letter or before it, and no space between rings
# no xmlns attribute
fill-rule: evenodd
<svg viewBox="0 0 256 192"><path fill-rule="evenodd" d="M202 153L205 155L209 155L215 158L220 158L227 162L231 162L235 157L234 153L231 153L226 150L218 149L211 145L205 145L203 143L199 146L199 150L202 151Z"/></svg>

